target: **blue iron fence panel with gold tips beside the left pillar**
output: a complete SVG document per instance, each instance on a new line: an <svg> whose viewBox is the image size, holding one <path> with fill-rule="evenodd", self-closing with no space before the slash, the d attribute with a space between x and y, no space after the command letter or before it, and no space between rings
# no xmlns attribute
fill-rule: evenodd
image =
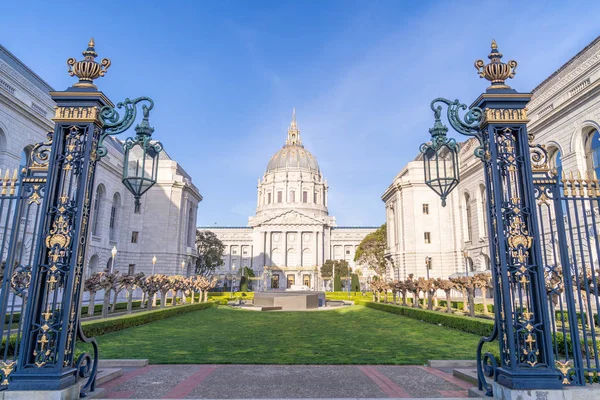
<svg viewBox="0 0 600 400"><path fill-rule="evenodd" d="M29 294L32 264L40 234L42 203L46 193L52 133L37 144L21 171L6 171L0 178L0 249L2 288L0 291L0 335L2 361L0 390L9 385L15 370L23 330L22 318Z"/></svg>

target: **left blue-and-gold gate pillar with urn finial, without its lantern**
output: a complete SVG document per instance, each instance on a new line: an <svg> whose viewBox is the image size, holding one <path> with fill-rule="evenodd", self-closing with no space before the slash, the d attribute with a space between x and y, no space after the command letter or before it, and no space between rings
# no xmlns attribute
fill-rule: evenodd
<svg viewBox="0 0 600 400"><path fill-rule="evenodd" d="M102 133L100 109L112 107L93 84L110 60L94 61L93 40L84 61L69 59L71 75L80 80L56 102L48 184L37 241L30 299L24 310L23 336L9 392L63 390L79 396L75 383L90 368L89 356L74 359L79 328L81 289L90 222L90 206Z"/></svg>

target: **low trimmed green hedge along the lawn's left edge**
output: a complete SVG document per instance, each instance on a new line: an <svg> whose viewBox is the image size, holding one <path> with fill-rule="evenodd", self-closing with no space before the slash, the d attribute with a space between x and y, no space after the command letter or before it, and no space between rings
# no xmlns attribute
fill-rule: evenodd
<svg viewBox="0 0 600 400"><path fill-rule="evenodd" d="M134 326L148 324L161 319L174 317L192 311L204 310L216 307L214 302L196 303L172 308L162 308L152 311L146 311L136 314L122 315L119 317L99 319L95 321L85 321L81 323L83 332L88 337L101 336L105 333L121 331Z"/></svg>

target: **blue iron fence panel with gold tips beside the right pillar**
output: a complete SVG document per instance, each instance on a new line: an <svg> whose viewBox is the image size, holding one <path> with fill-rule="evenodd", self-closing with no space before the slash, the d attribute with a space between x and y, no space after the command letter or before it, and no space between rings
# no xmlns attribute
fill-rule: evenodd
<svg viewBox="0 0 600 400"><path fill-rule="evenodd" d="M600 373L600 182L550 169L545 148L531 150L555 367L564 385L591 384Z"/></svg>

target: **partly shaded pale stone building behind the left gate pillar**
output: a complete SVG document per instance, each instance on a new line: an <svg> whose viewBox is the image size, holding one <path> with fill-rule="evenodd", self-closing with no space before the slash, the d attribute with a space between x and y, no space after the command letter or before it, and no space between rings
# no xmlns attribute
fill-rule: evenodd
<svg viewBox="0 0 600 400"><path fill-rule="evenodd" d="M0 46L0 169L13 171L26 163L35 143L54 129L50 87L7 49ZM157 134L160 139L160 133ZM202 196L183 168L161 153L158 182L136 209L133 196L121 183L122 143L109 138L108 155L99 165L92 200L92 226L86 274L111 263L121 272L169 275L193 272L196 214ZM27 245L27 244L25 244Z"/></svg>

